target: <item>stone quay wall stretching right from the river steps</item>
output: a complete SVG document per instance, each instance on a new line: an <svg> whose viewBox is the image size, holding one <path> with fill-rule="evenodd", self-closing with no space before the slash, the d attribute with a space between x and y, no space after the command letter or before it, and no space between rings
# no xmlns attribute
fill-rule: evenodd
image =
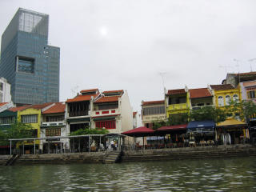
<svg viewBox="0 0 256 192"><path fill-rule="evenodd" d="M146 162L161 160L232 158L256 156L256 147L250 145L199 146L160 150L124 151L122 162Z"/></svg>

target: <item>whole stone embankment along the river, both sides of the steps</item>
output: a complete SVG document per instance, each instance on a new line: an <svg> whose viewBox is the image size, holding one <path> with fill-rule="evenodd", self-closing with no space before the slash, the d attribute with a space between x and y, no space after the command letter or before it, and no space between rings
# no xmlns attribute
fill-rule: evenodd
<svg viewBox="0 0 256 192"><path fill-rule="evenodd" d="M154 150L125 150L122 162L171 161L182 159L233 158L256 156L256 147L250 145L198 146ZM15 165L102 163L103 152L70 154L24 154ZM0 164L5 165L10 155L1 155Z"/></svg>

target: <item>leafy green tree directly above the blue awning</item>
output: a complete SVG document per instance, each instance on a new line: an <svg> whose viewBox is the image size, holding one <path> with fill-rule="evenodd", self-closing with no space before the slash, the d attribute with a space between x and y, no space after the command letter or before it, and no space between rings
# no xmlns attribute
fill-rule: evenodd
<svg viewBox="0 0 256 192"><path fill-rule="evenodd" d="M216 123L224 122L227 118L226 110L215 108L213 106L205 106L198 110L190 111L190 120L206 121L211 120Z"/></svg>

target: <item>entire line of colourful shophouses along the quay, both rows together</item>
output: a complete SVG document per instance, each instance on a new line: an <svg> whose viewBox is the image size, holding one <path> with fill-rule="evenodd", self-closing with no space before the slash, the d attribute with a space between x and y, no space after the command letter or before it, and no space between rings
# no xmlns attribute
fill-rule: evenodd
<svg viewBox="0 0 256 192"><path fill-rule="evenodd" d="M226 79L219 85L198 89L185 86L182 89L165 90L162 100L142 101L142 114L133 112L126 90L81 90L77 96L65 102L28 106L14 106L9 99L0 102L0 130L9 129L11 124L18 120L33 127L34 138L43 138L35 142L23 142L25 150L29 151L34 146L42 151L60 148L59 146L68 150L70 140L65 137L81 128L105 128L110 133L121 134L140 126L141 121L142 126L153 128L155 122L166 121L202 107L222 108L228 106L231 100L256 102L255 91L256 72L227 74ZM10 98L8 95L5 97ZM170 131L166 134L169 134L169 138L172 137L174 142L181 139L184 142L184 133L187 133L187 130L195 132L198 139L214 141L229 134L231 142L235 144L244 138L255 138L255 126L255 117L250 117L247 121L238 118L227 119L219 124L209 121L188 122L187 125L169 127ZM247 130L250 130L250 136ZM10 146L0 146L0 151L8 150L8 147Z"/></svg>

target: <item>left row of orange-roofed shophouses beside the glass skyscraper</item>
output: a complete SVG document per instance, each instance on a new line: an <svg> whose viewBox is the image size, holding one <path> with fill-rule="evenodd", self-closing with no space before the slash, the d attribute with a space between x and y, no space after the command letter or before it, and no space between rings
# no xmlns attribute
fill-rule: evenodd
<svg viewBox="0 0 256 192"><path fill-rule="evenodd" d="M69 136L75 130L90 127L105 128L110 133L133 129L133 112L126 90L99 92L98 89L81 90L66 102L15 107L10 102L0 105L0 129L7 130L16 120L30 124L35 138L42 140L23 142L26 151L70 149ZM53 137L62 138L53 138ZM50 138L50 139L47 139ZM50 146L49 146L50 145ZM2 146L3 150L9 146ZM44 151L46 152L46 151Z"/></svg>

